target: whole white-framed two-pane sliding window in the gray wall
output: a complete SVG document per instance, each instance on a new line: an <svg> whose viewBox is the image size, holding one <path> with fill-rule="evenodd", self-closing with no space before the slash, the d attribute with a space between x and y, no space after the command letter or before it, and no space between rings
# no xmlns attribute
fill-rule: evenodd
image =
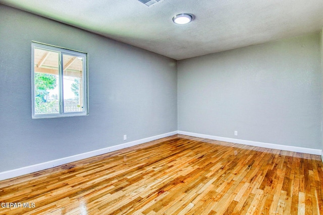
<svg viewBox="0 0 323 215"><path fill-rule="evenodd" d="M86 57L32 42L32 118L88 114Z"/></svg>

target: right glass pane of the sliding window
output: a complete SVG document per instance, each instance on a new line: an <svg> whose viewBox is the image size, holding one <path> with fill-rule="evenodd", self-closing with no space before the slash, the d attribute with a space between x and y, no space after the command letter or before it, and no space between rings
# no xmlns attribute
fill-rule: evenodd
<svg viewBox="0 0 323 215"><path fill-rule="evenodd" d="M63 54L64 112L83 111L83 57Z"/></svg>

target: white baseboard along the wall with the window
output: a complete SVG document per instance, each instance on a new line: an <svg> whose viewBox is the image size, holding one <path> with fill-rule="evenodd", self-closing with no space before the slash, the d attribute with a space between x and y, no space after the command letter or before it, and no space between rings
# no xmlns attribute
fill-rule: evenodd
<svg viewBox="0 0 323 215"><path fill-rule="evenodd" d="M107 147L107 148L104 148L104 149L94 150L94 151L91 151L91 152L86 152L86 153L82 153L82 154L78 154L78 155L73 155L73 156L69 156L69 157L66 157L66 158L60 158L60 159L57 159L57 160L47 161L47 162L40 163L40 164L35 164L35 165L31 165L31 166L26 166L26 167L14 169L14 170L0 172L0 180L14 178L14 177L17 177L17 176L21 176L21 175L25 175L25 174L29 174L29 173L33 173L33 172L38 172L38 171L41 171L41 170L45 170L45 169L48 169L48 168L57 167L57 166L60 166L60 165L63 165L63 164L71 163L71 162L74 162L74 161L79 161L79 160L90 158L90 157L97 156L97 155L102 155L102 154L117 151L117 150L120 150L120 149L125 149L127 147L132 147L132 146L135 146L135 145L143 144L145 142L149 142L149 141L152 141L152 140L155 140L155 139L164 138L164 137L171 136L171 135L174 135L174 134L177 134L177 131L164 133L164 134L159 134L159 135L156 135L156 136L151 136L151 137L147 137L147 138L144 138L144 139L139 139L139 140L135 140L135 141L131 141L131 142L126 142L125 144L120 144L120 145L117 145L117 146L112 146L112 147Z"/></svg>

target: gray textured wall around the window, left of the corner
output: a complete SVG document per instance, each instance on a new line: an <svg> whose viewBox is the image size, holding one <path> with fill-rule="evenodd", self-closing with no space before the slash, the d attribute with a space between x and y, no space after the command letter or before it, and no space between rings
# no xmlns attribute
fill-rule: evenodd
<svg viewBox="0 0 323 215"><path fill-rule="evenodd" d="M88 116L31 119L32 40L88 53ZM177 130L173 59L3 5L0 47L0 172Z"/></svg>

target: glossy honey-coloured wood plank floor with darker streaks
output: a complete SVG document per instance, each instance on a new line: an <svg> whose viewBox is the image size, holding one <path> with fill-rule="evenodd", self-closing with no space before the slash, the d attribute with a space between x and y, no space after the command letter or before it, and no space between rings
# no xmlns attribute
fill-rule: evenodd
<svg viewBox="0 0 323 215"><path fill-rule="evenodd" d="M0 181L0 214L323 214L322 165L173 135Z"/></svg>

